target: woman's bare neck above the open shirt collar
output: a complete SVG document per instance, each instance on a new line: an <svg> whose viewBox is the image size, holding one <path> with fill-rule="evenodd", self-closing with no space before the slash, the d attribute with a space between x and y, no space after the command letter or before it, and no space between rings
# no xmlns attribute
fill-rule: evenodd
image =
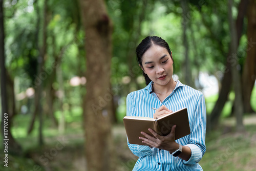
<svg viewBox="0 0 256 171"><path fill-rule="evenodd" d="M170 81L164 86L159 84L153 84L153 91L156 94L170 94L171 92L173 92L175 87L176 82L173 79L170 79Z"/></svg>

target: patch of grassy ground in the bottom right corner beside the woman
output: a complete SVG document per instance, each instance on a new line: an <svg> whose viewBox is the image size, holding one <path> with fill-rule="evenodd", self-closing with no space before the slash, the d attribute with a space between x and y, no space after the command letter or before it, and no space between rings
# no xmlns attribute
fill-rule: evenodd
<svg viewBox="0 0 256 171"><path fill-rule="evenodd" d="M206 138L207 151L199 164L204 170L255 170L256 125L247 125L247 132L221 134L221 130Z"/></svg>

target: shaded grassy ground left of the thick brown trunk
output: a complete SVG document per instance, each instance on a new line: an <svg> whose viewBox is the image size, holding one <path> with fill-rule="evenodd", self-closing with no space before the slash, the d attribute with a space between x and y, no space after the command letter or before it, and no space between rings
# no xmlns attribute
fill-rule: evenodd
<svg viewBox="0 0 256 171"><path fill-rule="evenodd" d="M83 152L81 151L84 144L81 114L81 108L74 108L71 111L65 111L67 129L63 135L59 134L58 129L53 126L50 118L45 117L42 133L44 136L45 145L41 147L38 146L38 119L36 118L34 130L30 135L27 135L27 129L31 120L31 115L19 114L15 116L12 123L11 132L16 141L22 145L23 155L19 156L10 154L8 149L8 167L5 167L3 164L1 164L0 170L44 171L44 168L48 168L49 166L51 166L52 170L72 170L72 162L69 161L71 158L68 156L74 156L74 154L77 155L78 153ZM55 113L55 116L57 120L59 120L61 113L58 111ZM61 137L65 137L69 144L66 145L65 148L61 149L61 151L55 150L58 154L62 155L54 156L54 148L56 149L56 145L58 145L60 142ZM59 146L60 145L58 145L58 147ZM0 143L1 156L3 151L3 143ZM50 156L52 160L49 159L47 165L41 165L40 159L45 159L46 161L47 157L44 156L45 153L51 152L53 154L53 156ZM40 158L41 156L43 157ZM41 165L40 167L39 164Z"/></svg>

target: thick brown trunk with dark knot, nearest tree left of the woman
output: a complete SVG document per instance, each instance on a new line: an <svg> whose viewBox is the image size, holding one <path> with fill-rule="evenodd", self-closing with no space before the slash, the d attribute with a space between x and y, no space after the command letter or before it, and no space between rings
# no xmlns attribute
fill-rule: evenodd
<svg viewBox="0 0 256 171"><path fill-rule="evenodd" d="M110 67L112 22L102 0L80 0L86 32L87 94L83 101L87 170L114 170Z"/></svg>

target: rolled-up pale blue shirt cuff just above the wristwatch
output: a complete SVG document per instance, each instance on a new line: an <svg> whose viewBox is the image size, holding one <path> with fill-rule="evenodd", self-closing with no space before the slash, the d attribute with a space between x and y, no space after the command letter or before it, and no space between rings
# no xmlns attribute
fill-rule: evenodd
<svg viewBox="0 0 256 171"><path fill-rule="evenodd" d="M188 161L183 160L183 163L184 164L198 163L203 157L201 149L195 144L187 144L185 146L188 146L191 149L191 156Z"/></svg>

